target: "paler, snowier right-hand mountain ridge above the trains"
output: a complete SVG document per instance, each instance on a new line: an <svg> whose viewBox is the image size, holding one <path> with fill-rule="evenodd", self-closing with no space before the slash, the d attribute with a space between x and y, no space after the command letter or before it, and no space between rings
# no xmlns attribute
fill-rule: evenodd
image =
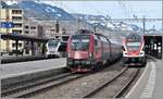
<svg viewBox="0 0 163 99"><path fill-rule="evenodd" d="M87 15L87 14L73 14L75 18L79 18L82 21L89 22L91 24L97 24L101 26L105 26L110 28L111 30L113 29L118 29L118 30L141 30L141 28L137 25L134 24L127 24L124 22L116 22L113 23L109 21L105 16L103 15Z"/></svg>

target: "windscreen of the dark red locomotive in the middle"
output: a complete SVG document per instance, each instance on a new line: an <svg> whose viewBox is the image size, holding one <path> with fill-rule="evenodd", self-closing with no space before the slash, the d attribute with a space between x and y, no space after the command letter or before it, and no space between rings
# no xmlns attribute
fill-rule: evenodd
<svg viewBox="0 0 163 99"><path fill-rule="evenodd" d="M72 36L72 49L86 51L89 49L89 35Z"/></svg>

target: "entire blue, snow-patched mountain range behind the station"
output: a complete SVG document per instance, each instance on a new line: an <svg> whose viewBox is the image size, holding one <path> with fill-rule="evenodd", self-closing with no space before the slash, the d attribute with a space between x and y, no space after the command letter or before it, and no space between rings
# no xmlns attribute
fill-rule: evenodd
<svg viewBox="0 0 163 99"><path fill-rule="evenodd" d="M23 1L5 1L2 2L2 8L21 8L24 10L25 17L36 17L38 20L62 20L62 21L78 21L88 25L106 28L109 30L141 30L140 27L134 24L124 22L113 23L108 21L103 15L77 14L67 13L61 8L41 2L41 0L23 0Z"/></svg>

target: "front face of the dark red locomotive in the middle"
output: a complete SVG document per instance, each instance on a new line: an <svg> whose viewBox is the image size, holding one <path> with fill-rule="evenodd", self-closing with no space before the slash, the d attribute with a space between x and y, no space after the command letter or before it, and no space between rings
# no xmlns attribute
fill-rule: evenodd
<svg viewBox="0 0 163 99"><path fill-rule="evenodd" d="M92 35L74 35L67 44L67 66L74 72L87 72L95 64L92 54Z"/></svg>

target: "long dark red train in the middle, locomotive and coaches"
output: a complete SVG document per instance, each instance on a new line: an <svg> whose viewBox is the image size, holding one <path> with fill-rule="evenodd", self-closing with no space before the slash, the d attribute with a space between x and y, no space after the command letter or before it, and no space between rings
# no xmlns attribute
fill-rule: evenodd
<svg viewBox="0 0 163 99"><path fill-rule="evenodd" d="M111 63L122 54L122 46L105 36L80 29L67 41L67 67L73 72L88 72Z"/></svg>

